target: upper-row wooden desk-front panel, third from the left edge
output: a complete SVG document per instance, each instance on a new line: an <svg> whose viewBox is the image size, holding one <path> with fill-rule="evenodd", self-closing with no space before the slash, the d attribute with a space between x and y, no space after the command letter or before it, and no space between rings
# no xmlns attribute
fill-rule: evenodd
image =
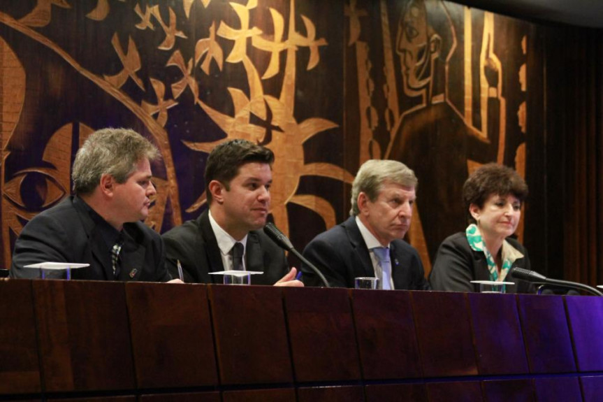
<svg viewBox="0 0 603 402"><path fill-rule="evenodd" d="M217 385L206 285L126 285L138 388Z"/></svg>

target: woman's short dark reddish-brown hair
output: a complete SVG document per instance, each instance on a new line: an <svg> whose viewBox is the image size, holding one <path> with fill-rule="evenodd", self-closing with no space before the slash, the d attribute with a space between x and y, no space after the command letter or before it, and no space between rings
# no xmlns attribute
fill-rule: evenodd
<svg viewBox="0 0 603 402"><path fill-rule="evenodd" d="M469 213L471 204L484 208L484 203L491 195L515 196L521 203L528 196L528 185L521 176L508 166L485 164L474 171L463 185L463 200L467 220L475 223Z"/></svg>

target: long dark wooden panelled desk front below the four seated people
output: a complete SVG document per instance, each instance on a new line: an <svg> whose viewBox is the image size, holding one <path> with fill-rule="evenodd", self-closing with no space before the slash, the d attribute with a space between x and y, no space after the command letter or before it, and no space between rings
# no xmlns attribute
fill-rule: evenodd
<svg viewBox="0 0 603 402"><path fill-rule="evenodd" d="M602 303L10 280L0 282L0 400L594 402Z"/></svg>

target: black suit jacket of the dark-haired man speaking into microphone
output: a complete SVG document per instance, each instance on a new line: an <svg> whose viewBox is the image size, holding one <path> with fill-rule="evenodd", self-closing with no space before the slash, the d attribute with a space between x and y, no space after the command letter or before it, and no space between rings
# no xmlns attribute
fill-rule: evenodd
<svg viewBox="0 0 603 402"><path fill-rule="evenodd" d="M184 282L222 283L222 275L210 272L224 271L220 249L206 210L196 220L189 220L163 235L166 243L166 264L174 278L178 278L176 261L180 260ZM250 231L245 245L247 271L260 271L252 275L252 285L274 285L288 271L284 251L263 233Z"/></svg>

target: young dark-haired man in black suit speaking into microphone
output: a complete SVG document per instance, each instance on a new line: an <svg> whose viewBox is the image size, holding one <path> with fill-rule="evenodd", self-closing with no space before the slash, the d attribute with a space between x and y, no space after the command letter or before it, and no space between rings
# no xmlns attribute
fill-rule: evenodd
<svg viewBox="0 0 603 402"><path fill-rule="evenodd" d="M184 282L222 283L211 272L245 270L252 285L303 286L284 251L261 230L270 213L274 154L246 140L217 145L205 164L209 209L163 235L168 269Z"/></svg>

